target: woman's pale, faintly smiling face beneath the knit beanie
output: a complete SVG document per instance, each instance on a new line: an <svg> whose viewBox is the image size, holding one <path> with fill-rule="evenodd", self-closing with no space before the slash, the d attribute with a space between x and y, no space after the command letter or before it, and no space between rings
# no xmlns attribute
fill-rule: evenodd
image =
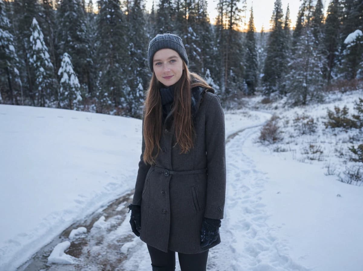
<svg viewBox="0 0 363 271"><path fill-rule="evenodd" d="M168 87L179 81L183 74L183 59L172 49L160 49L154 54L152 67L159 82Z"/></svg>

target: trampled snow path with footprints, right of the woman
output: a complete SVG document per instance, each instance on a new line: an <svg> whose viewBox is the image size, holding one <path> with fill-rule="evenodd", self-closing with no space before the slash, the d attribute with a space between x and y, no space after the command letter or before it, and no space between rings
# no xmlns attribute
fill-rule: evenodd
<svg viewBox="0 0 363 271"><path fill-rule="evenodd" d="M277 227L266 224L268 214L261 192L268 181L256 162L243 152L244 143L258 133L246 128L226 144L227 190L225 215L220 229L222 243L209 252L207 270L306 271L294 263L288 248L274 236Z"/></svg>

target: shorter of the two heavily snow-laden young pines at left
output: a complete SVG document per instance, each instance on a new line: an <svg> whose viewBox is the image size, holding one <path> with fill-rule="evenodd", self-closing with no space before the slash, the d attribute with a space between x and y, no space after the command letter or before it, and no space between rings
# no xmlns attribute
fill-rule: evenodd
<svg viewBox="0 0 363 271"><path fill-rule="evenodd" d="M80 107L80 102L82 101L81 85L79 85L78 77L73 70L73 65L68 53L63 54L58 76L60 78L58 107L71 110L78 109Z"/></svg>

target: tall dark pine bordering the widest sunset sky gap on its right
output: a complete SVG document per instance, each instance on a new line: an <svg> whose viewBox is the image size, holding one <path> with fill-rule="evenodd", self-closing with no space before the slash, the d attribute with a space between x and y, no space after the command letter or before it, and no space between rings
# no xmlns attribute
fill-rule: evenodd
<svg viewBox="0 0 363 271"><path fill-rule="evenodd" d="M284 29L282 28L283 17L281 0L276 0L271 17L272 31L268 40L264 77L262 78L264 92L267 95L281 89L282 78L284 77L286 56L283 50L285 46Z"/></svg>

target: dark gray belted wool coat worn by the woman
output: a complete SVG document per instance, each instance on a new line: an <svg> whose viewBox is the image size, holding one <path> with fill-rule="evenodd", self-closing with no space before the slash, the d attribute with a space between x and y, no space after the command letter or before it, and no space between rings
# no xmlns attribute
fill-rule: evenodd
<svg viewBox="0 0 363 271"><path fill-rule="evenodd" d="M142 137L132 204L141 206L140 239L164 252L195 254L220 243L219 238L202 248L200 233L203 217L223 218L226 185L224 112L216 94L205 92L201 99L202 90L198 88L197 136L188 153L180 154L179 145L175 145L174 122L171 129L162 134L162 151L156 157L156 165L144 163Z"/></svg>

